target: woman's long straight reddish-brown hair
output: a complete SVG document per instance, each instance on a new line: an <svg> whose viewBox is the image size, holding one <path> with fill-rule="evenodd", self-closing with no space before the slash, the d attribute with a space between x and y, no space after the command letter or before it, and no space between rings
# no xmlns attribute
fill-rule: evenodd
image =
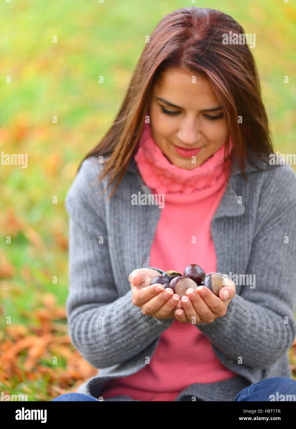
<svg viewBox="0 0 296 429"><path fill-rule="evenodd" d="M257 66L247 44L222 43L223 35L230 31L245 33L231 16L195 6L171 12L159 22L142 51L114 123L83 159L99 155L108 158L99 180L110 175L106 191L118 176L109 198L124 176L141 136L153 85L160 82L170 66L196 75L202 73L211 82L227 123L224 163L229 156L230 134L233 156L245 180L246 160L258 169L254 159L267 162L266 155L274 150ZM238 116L242 116L242 123L238 123Z"/></svg>

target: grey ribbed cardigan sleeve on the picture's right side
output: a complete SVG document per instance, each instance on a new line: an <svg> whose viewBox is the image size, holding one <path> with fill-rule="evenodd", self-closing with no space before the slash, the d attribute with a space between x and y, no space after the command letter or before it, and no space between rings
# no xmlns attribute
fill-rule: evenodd
<svg viewBox="0 0 296 429"><path fill-rule="evenodd" d="M296 174L290 166L266 177L256 217L246 270L256 276L255 287L242 286L223 317L196 327L234 360L266 369L296 335Z"/></svg>

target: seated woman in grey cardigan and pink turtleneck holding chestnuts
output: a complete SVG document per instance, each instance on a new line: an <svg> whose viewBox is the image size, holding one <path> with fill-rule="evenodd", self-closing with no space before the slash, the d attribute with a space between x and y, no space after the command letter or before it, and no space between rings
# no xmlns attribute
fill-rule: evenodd
<svg viewBox="0 0 296 429"><path fill-rule="evenodd" d="M100 371L54 401L296 393L296 175L269 163L254 58L222 42L230 31L244 33L212 9L164 17L80 166L66 197L66 308L72 343ZM219 297L149 286L191 263L224 276Z"/></svg>

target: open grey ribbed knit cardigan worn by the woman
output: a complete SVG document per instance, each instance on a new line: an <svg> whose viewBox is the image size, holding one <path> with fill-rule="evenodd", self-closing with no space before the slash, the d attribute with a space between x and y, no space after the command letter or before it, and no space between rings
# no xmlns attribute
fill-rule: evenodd
<svg viewBox="0 0 296 429"><path fill-rule="evenodd" d="M296 174L289 165L256 162L263 171L247 163L247 182L233 161L211 221L217 272L255 275L256 286L236 284L227 313L195 325L211 341L220 362L237 376L191 384L175 401L233 401L257 381L292 378L288 351L296 335ZM132 194L151 193L133 157L105 203L112 186L102 194L108 177L97 181L101 169L96 157L86 159L66 196L69 335L84 359L99 369L77 391L96 398L109 380L142 369L174 321L144 315L132 302L128 281L134 269L149 267L161 208L131 204ZM156 269L162 273L173 268Z"/></svg>

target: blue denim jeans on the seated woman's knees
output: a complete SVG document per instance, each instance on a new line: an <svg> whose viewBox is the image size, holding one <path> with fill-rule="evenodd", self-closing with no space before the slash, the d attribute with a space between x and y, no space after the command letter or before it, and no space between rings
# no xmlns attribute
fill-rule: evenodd
<svg viewBox="0 0 296 429"><path fill-rule="evenodd" d="M284 396L282 396L284 395ZM288 396L287 396L288 395ZM127 401L133 400L126 396ZM121 401L124 399L121 399ZM296 381L286 377L272 377L257 381L241 390L234 401L296 401ZM52 399L53 401L99 401L84 393L65 393ZM116 401L116 396L114 398Z"/></svg>

